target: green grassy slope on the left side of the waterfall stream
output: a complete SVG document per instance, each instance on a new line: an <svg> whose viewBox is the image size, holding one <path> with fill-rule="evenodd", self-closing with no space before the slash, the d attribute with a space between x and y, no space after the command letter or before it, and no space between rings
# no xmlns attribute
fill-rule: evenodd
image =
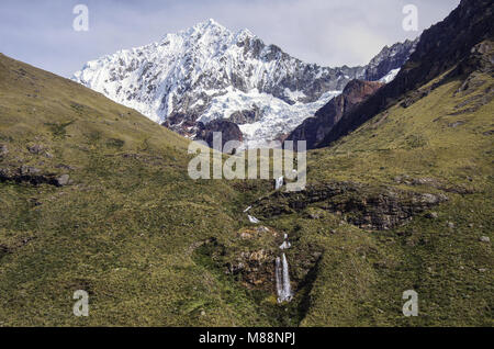
<svg viewBox="0 0 494 349"><path fill-rule="evenodd" d="M189 179L188 140L0 56L0 168L74 181L0 182L0 325L269 325L191 258L198 241L235 232L244 203L231 183ZM79 289L88 318L72 315Z"/></svg>

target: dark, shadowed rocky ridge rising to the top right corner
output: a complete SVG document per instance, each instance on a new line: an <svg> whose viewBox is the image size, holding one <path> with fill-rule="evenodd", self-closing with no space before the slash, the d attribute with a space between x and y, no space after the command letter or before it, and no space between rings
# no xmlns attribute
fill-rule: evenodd
<svg viewBox="0 0 494 349"><path fill-rule="evenodd" d="M493 20L492 1L461 1L460 5L446 20L433 25L422 34L415 52L396 78L350 113L344 115L319 146L327 146L347 135L400 100L403 100L401 105L406 108L409 103L427 95L430 90L418 91L418 89L456 66L460 69L454 69L447 78L467 78L470 72L479 68L467 64L475 60L472 56L479 56L479 52L474 47L481 42L494 37ZM484 61L490 66L487 68L492 69L492 58L478 61ZM440 83L438 82L430 89Z"/></svg>

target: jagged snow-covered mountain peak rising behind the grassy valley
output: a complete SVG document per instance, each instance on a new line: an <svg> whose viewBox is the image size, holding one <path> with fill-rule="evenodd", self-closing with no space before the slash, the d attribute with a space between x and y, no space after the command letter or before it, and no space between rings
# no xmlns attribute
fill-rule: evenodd
<svg viewBox="0 0 494 349"><path fill-rule="evenodd" d="M74 79L188 137L199 122L229 120L255 147L289 134L352 79L400 68L409 52L409 43L396 44L369 67L321 67L209 20L89 61Z"/></svg>

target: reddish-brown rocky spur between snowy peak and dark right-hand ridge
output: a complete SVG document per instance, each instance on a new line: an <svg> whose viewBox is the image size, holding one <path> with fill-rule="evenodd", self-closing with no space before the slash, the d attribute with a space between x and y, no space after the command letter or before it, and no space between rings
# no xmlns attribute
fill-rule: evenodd
<svg viewBox="0 0 494 349"><path fill-rule="evenodd" d="M306 119L287 138L288 140L306 140L307 149L314 149L319 142L340 121L345 113L374 94L384 83L352 80L344 92L319 109L315 116Z"/></svg>

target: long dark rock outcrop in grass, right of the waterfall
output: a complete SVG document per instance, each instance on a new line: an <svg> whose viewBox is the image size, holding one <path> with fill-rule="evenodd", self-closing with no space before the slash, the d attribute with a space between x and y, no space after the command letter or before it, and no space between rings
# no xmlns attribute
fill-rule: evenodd
<svg viewBox="0 0 494 349"><path fill-rule="evenodd" d="M352 182L307 185L302 192L274 192L252 207L257 217L291 214L318 203L330 213L366 229L390 229L445 201L445 194L417 193L394 188L371 188Z"/></svg>

